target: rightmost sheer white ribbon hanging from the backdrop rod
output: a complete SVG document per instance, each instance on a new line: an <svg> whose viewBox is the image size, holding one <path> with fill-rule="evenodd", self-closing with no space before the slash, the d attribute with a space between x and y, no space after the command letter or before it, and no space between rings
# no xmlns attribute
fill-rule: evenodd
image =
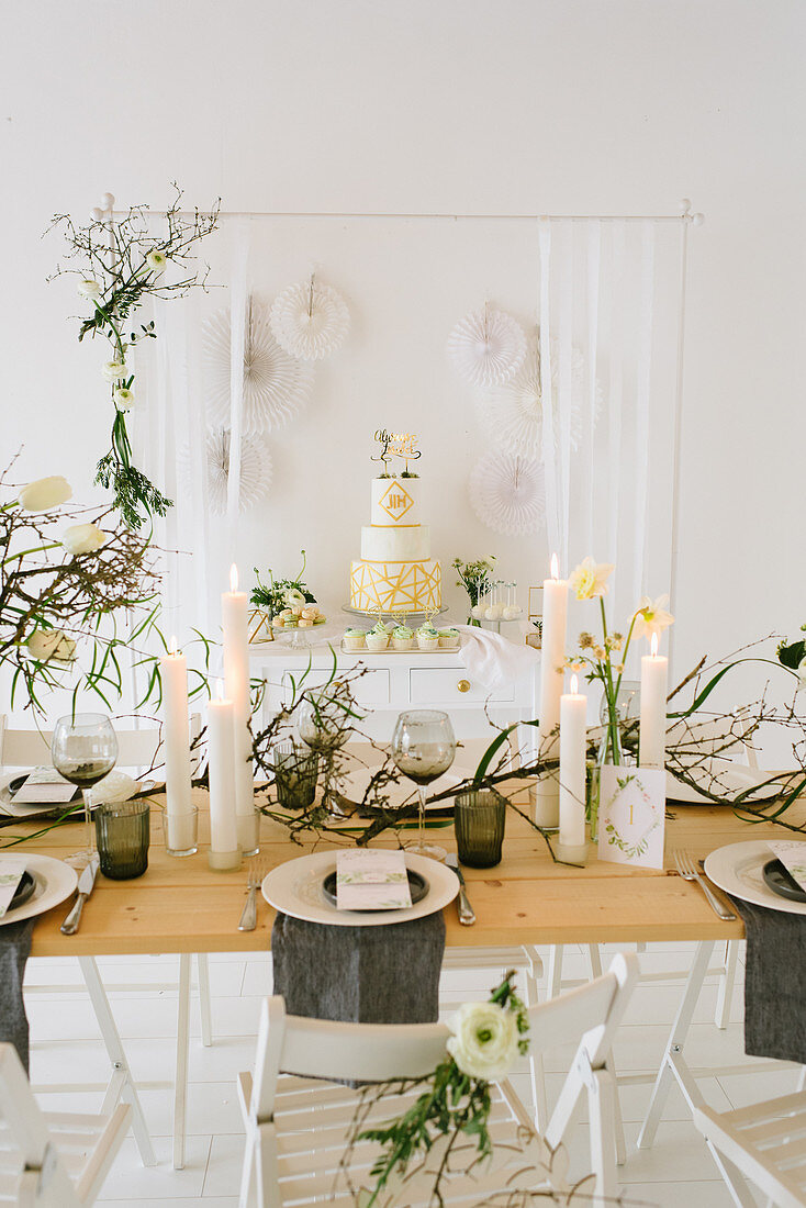
<svg viewBox="0 0 806 1208"><path fill-rule="evenodd" d="M649 407L653 372L653 324L655 300L655 223L640 225L640 309L636 378L636 500L633 536L633 599L646 590L646 507L649 503Z"/></svg>

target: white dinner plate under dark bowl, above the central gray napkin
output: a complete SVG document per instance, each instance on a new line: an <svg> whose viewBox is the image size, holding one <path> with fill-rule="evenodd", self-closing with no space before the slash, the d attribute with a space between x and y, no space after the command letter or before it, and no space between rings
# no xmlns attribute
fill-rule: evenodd
<svg viewBox="0 0 806 1208"><path fill-rule="evenodd" d="M459 893L459 878L452 869L425 855L405 852L406 867L419 872L428 881L428 893L416 906L405 910L347 911L336 910L321 888L325 877L336 870L336 852L314 852L296 860L286 860L272 869L261 885L263 898L274 910L301 918L307 923L330 923L332 927L383 927L387 923L408 923L442 910Z"/></svg>

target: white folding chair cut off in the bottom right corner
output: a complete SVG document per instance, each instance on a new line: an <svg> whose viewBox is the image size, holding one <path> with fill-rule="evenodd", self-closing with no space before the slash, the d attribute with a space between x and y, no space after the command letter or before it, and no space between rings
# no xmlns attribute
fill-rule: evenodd
<svg viewBox="0 0 806 1208"><path fill-rule="evenodd" d="M769 1208L806 1208L806 1092L737 1111L703 1104L695 1108L694 1122L737 1204L756 1206L749 1179L769 1197Z"/></svg>

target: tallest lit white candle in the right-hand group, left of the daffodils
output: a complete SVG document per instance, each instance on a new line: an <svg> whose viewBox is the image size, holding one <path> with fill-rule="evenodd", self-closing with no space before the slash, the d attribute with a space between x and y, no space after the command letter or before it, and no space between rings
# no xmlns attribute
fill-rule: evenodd
<svg viewBox="0 0 806 1208"><path fill-rule="evenodd" d="M540 656L540 759L556 759L559 750L559 697L563 691L566 662L566 620L568 583L557 577L557 554L551 557L551 579L543 583L543 650ZM557 771L546 772L537 783L534 820L538 826L555 830L559 824L559 779Z"/></svg>

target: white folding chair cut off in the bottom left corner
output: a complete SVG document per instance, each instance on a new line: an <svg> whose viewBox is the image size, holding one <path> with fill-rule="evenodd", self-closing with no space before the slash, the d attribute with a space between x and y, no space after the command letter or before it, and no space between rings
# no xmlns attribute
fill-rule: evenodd
<svg viewBox="0 0 806 1208"><path fill-rule="evenodd" d="M12 1045L0 1044L0 1203L92 1204L126 1137L131 1108L109 1116L44 1114Z"/></svg>

